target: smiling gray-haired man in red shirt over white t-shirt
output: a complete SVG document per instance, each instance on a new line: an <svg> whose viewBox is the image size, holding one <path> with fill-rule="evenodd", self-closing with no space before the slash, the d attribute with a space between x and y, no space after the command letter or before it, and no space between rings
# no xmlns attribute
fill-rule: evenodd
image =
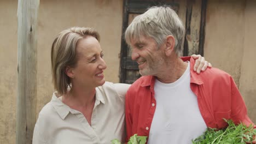
<svg viewBox="0 0 256 144"><path fill-rule="evenodd" d="M169 7L150 8L126 29L142 75L126 94L127 139L138 134L149 136L148 143L191 143L207 127L226 127L223 118L252 124L229 74L212 68L197 75L194 59L179 58L184 33Z"/></svg>

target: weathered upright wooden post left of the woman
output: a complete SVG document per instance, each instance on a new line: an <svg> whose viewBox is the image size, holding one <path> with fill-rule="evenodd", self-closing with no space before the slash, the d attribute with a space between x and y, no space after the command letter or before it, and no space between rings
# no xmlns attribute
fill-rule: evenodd
<svg viewBox="0 0 256 144"><path fill-rule="evenodd" d="M18 1L18 95L16 143L32 143L36 123L39 0Z"/></svg>

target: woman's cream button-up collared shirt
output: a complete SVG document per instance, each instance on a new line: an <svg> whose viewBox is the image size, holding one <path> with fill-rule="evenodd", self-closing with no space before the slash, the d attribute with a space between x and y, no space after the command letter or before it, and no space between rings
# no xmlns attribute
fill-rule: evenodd
<svg viewBox="0 0 256 144"><path fill-rule="evenodd" d="M33 144L111 143L125 141L125 94L130 85L105 82L96 88L91 126L84 115L53 94L39 113L34 127Z"/></svg>

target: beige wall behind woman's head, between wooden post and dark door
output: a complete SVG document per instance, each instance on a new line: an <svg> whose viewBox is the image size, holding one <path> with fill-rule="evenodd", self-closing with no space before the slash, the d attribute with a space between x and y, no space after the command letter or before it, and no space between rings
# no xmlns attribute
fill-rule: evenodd
<svg viewBox="0 0 256 144"><path fill-rule="evenodd" d="M101 35L101 48L107 69L107 81L118 82L123 2L44 0L39 7L38 31L38 103L40 111L53 94L50 49L55 36L63 29L79 26L94 27Z"/></svg>

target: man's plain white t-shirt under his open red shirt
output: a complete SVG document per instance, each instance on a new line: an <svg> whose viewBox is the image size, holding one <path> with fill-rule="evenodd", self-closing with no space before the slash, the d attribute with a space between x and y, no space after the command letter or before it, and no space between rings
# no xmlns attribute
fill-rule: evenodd
<svg viewBox="0 0 256 144"><path fill-rule="evenodd" d="M149 144L192 143L207 126L197 97L190 89L190 66L173 83L155 81L156 109L149 132Z"/></svg>

